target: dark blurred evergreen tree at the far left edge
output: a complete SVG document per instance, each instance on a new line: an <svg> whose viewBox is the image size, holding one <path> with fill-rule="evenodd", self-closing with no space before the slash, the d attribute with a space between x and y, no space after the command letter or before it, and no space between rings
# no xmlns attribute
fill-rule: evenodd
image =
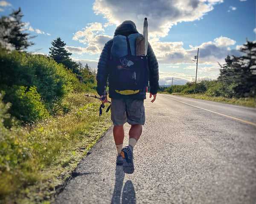
<svg viewBox="0 0 256 204"><path fill-rule="evenodd" d="M34 42L29 42L29 40L36 36L29 37L29 33L24 32L24 23L21 20L23 16L19 8L17 11L13 10L9 17L3 16L0 18L1 47L23 51L35 44Z"/></svg>

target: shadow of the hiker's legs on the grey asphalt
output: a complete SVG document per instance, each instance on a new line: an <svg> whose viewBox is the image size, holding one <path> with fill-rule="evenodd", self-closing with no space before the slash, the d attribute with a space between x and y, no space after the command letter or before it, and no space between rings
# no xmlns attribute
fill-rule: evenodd
<svg viewBox="0 0 256 204"><path fill-rule="evenodd" d="M122 190L125 173L122 170L122 166L116 166L116 181L115 188L111 200L111 204L136 204L136 195L132 182L130 180L125 182Z"/></svg>

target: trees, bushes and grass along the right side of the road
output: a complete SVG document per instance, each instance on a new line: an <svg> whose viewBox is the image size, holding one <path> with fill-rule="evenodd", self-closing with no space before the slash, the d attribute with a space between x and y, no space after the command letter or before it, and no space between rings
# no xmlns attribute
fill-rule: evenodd
<svg viewBox="0 0 256 204"><path fill-rule="evenodd" d="M218 79L160 87L168 94L256 107L256 42L241 46L241 57L227 56Z"/></svg>

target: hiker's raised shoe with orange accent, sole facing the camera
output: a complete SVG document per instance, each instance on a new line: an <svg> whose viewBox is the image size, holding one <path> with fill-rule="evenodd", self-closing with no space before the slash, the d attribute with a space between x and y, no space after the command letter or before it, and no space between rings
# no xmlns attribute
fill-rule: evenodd
<svg viewBox="0 0 256 204"><path fill-rule="evenodd" d="M133 165L133 149L131 146L126 146L122 148L122 158L124 158L123 171L125 173L134 173Z"/></svg>

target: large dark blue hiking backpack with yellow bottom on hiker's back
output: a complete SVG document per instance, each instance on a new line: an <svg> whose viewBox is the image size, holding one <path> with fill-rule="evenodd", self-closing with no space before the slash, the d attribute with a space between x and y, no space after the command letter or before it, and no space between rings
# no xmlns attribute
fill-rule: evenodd
<svg viewBox="0 0 256 204"><path fill-rule="evenodd" d="M143 42L145 47L145 39L144 41L143 39L143 36L138 33L130 34L128 37L123 35L113 37L109 87L118 94L137 94L140 89L148 86L147 56L145 54L137 56L138 52L141 54L140 48Z"/></svg>

